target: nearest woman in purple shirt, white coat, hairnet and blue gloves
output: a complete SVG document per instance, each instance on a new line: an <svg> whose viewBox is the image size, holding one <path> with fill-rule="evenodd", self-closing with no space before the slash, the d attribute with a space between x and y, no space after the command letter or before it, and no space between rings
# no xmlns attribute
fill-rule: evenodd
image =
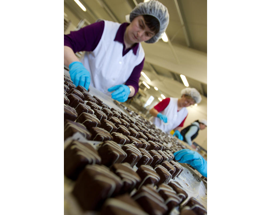
<svg viewBox="0 0 271 215"><path fill-rule="evenodd" d="M140 42L158 41L169 23L167 8L158 1L138 4L129 23L100 20L64 35L64 65L76 86L89 84L120 102L139 89L145 53ZM85 51L81 61L75 53ZM111 93L114 91L113 93Z"/></svg>

